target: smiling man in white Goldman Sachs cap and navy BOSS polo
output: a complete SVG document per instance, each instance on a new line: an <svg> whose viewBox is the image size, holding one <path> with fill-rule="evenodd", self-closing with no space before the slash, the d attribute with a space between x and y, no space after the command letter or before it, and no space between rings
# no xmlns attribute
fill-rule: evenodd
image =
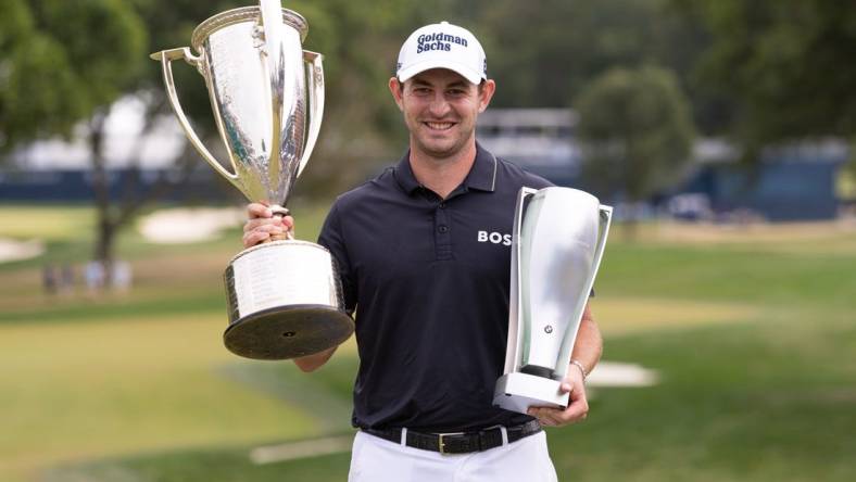
<svg viewBox="0 0 856 482"><path fill-rule="evenodd" d="M601 337L586 308L562 390L565 410L492 406L508 325L509 242L521 186L550 183L482 149L476 119L495 83L468 30L428 25L402 46L392 98L410 130L394 167L338 198L318 242L358 308L352 481L556 480L541 426L586 417ZM249 206L246 246L293 228ZM507 239L507 238L505 238ZM571 295L571 293L569 293ZM295 359L304 371L336 348ZM442 435L441 435L442 434Z"/></svg>

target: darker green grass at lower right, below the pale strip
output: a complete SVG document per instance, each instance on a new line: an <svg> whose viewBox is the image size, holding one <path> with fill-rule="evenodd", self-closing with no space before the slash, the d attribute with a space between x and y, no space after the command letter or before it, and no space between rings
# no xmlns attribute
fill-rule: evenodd
<svg viewBox="0 0 856 482"><path fill-rule="evenodd" d="M561 470L581 480L852 479L856 332L843 317L803 326L804 314L609 339L613 357L664 381L602 394L574 433L554 432Z"/></svg>

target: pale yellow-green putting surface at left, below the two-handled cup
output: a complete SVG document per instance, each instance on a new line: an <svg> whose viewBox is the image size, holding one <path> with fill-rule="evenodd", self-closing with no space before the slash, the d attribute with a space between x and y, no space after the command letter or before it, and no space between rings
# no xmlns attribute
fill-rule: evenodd
<svg viewBox="0 0 856 482"><path fill-rule="evenodd" d="M313 414L222 375L252 364L222 330L218 312L4 326L2 466L317 433Z"/></svg>

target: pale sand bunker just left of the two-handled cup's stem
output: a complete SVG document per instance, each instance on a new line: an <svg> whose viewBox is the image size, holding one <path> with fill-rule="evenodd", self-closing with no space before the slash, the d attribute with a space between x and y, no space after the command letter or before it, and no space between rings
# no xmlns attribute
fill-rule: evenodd
<svg viewBox="0 0 856 482"><path fill-rule="evenodd" d="M160 244L196 243L217 238L221 231L243 224L241 208L174 208L152 213L138 223L147 241Z"/></svg>

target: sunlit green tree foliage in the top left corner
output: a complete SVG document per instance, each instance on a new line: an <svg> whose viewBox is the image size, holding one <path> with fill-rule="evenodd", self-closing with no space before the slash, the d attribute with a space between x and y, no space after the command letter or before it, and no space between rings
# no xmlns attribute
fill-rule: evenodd
<svg viewBox="0 0 856 482"><path fill-rule="evenodd" d="M3 152L51 135L71 136L139 72L135 58L146 33L121 0L0 0L0 11Z"/></svg>

